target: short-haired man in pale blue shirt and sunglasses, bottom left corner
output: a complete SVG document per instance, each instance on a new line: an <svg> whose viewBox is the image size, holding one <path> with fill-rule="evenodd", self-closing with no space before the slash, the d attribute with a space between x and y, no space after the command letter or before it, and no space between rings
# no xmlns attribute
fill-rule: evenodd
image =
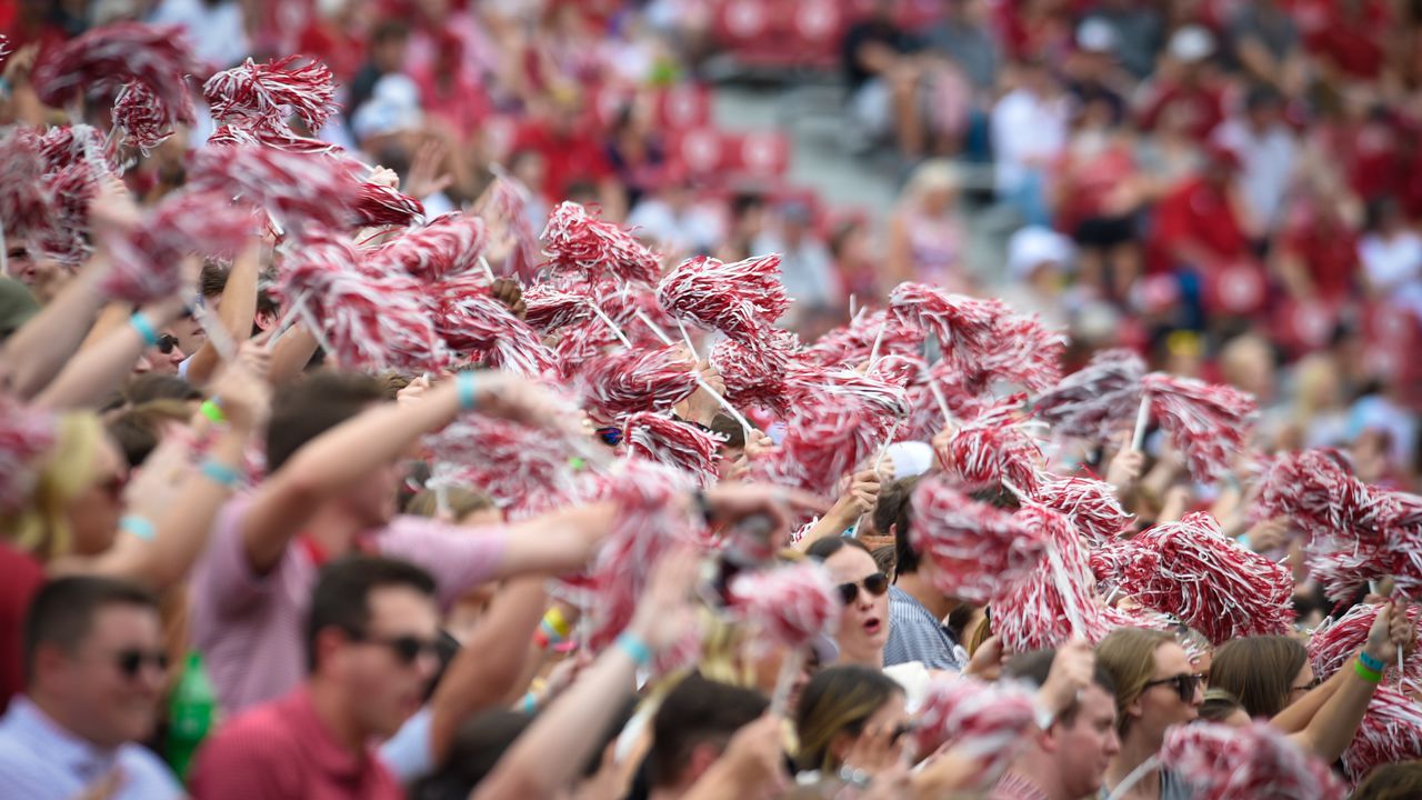
<svg viewBox="0 0 1422 800"><path fill-rule="evenodd" d="M166 656L158 605L112 578L58 578L26 618L24 695L0 717L0 796L182 797L137 744L158 719Z"/></svg>

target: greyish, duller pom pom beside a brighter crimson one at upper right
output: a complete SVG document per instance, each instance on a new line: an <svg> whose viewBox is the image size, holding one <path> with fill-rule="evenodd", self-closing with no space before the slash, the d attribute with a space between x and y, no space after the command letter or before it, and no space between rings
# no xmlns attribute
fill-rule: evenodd
<svg viewBox="0 0 1422 800"><path fill-rule="evenodd" d="M1032 403L1052 433L1102 441L1133 419L1146 364L1130 350L1102 350Z"/></svg>

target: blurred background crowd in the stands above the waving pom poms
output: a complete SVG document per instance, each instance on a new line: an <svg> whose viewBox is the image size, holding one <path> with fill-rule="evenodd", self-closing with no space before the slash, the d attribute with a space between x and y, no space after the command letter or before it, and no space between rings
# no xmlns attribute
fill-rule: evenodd
<svg viewBox="0 0 1422 800"><path fill-rule="evenodd" d="M806 339L906 279L991 293L1068 330L1072 363L1129 346L1233 383L1267 448L1347 447L1415 488L1422 3L0 4L21 53L122 19L182 23L218 68L324 61L321 138L431 216L506 169L535 232L566 198L673 255L776 251ZM135 181L178 182L210 128Z"/></svg>

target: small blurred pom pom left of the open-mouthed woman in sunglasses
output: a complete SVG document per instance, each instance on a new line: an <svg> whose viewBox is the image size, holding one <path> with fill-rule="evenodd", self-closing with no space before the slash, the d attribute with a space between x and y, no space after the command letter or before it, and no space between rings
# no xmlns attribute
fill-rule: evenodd
<svg viewBox="0 0 1422 800"><path fill-rule="evenodd" d="M843 602L819 564L801 562L731 579L731 614L754 623L772 642L789 649L829 635L839 625Z"/></svg>

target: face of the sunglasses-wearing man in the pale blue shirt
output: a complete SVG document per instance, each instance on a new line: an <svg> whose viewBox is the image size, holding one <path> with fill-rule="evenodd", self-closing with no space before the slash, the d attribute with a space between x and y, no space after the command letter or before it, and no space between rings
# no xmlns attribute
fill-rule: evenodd
<svg viewBox="0 0 1422 800"><path fill-rule="evenodd" d="M64 705L74 733L100 747L117 747L154 732L162 655L156 611L111 605L94 615L88 636L73 653L40 659L36 685Z"/></svg>

